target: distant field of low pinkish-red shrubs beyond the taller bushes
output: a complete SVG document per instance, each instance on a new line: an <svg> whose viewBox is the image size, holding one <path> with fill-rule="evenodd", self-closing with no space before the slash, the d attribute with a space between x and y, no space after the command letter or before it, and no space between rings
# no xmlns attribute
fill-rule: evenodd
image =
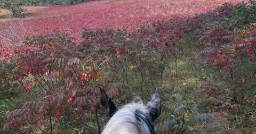
<svg viewBox="0 0 256 134"><path fill-rule="evenodd" d="M26 37L67 32L79 40L84 28L113 28L132 31L150 21L188 17L204 13L225 2L241 0L138 0L92 1L71 6L49 6L31 13L32 18L0 22L0 43L4 50L21 43ZM2 52L2 57L9 53Z"/></svg>

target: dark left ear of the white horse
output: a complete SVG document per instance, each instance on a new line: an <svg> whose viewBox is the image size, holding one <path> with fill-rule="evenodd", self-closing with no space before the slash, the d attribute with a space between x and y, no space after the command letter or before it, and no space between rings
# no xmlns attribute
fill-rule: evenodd
<svg viewBox="0 0 256 134"><path fill-rule="evenodd" d="M106 91L100 87L100 101L103 107L103 115L105 119L110 119L111 116L117 111L115 104L111 101L111 99L107 96Z"/></svg>

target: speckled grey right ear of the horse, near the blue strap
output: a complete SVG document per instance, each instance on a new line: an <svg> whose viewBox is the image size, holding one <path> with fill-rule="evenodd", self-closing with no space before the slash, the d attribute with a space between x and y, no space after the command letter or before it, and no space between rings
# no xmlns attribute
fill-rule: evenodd
<svg viewBox="0 0 256 134"><path fill-rule="evenodd" d="M161 114L161 95L159 94L159 90L157 88L154 89L154 93L149 99L147 110L149 111L151 121L153 122Z"/></svg>

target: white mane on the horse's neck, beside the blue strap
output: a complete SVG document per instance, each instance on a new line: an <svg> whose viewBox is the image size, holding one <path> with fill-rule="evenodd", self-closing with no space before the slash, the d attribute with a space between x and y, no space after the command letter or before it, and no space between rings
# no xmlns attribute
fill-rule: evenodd
<svg viewBox="0 0 256 134"><path fill-rule="evenodd" d="M135 118L134 112L139 111L144 115L148 115L149 111L143 102L137 102L124 105L119 109L108 121L102 134L139 134L150 133L147 124L140 122Z"/></svg>

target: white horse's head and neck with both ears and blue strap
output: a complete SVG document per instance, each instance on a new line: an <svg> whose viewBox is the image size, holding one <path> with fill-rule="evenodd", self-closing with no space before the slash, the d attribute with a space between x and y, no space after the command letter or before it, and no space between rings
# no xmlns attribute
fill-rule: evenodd
<svg viewBox="0 0 256 134"><path fill-rule="evenodd" d="M142 102L131 103L117 109L100 87L103 114L109 119L102 134L153 134L154 121L161 113L161 96L157 88L151 95L147 105Z"/></svg>

